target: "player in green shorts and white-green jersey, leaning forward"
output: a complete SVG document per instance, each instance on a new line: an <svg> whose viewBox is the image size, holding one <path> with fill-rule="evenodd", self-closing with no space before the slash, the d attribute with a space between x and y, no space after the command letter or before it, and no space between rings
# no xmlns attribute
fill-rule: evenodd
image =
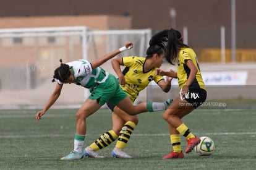
<svg viewBox="0 0 256 170"><path fill-rule="evenodd" d="M86 119L88 116L100 109L106 101L116 104L116 106L126 111L126 113L132 115L152 111L152 106L150 106L152 103L140 103L137 106L134 106L132 101L130 101L130 98L120 87L116 77L99 67L112 57L132 47L132 43L127 42L122 48L116 49L94 62L78 60L62 64L61 61L61 66L54 71L53 82L57 79L58 83L56 83L56 87L49 97L45 108L36 113L36 119L40 120L46 111L48 111L48 109L59 98L64 83L75 83L76 85L81 85L82 87L88 88L91 93L75 116L76 133L74 139L74 150L70 152L69 155L61 158L62 160L83 158L83 143L87 130Z"/></svg>

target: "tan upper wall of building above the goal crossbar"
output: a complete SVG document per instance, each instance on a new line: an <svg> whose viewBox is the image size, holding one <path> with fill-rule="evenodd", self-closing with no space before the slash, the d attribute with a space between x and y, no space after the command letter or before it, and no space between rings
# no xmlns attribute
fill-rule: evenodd
<svg viewBox="0 0 256 170"><path fill-rule="evenodd" d="M130 17L117 15L60 15L0 17L0 28L87 26L97 30L130 29Z"/></svg>

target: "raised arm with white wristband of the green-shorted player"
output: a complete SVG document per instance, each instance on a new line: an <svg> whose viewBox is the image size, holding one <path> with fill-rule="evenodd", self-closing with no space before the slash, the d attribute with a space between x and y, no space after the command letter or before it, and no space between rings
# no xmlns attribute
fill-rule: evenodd
<svg viewBox="0 0 256 170"><path fill-rule="evenodd" d="M132 47L133 47L132 43L126 42L126 45L124 45L123 47L121 47L119 49L116 49L115 51L112 51L109 54L106 54L105 56L101 57L100 59L97 59L96 61L93 61L92 62L93 69L98 67L98 66L101 66L101 64L104 64L106 61L113 58L114 56L121 53L122 51L126 51L127 49L131 49Z"/></svg>

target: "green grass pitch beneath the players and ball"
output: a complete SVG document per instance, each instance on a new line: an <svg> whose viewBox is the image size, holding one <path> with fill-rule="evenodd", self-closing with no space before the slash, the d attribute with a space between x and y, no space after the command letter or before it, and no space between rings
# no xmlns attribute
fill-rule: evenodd
<svg viewBox="0 0 256 170"><path fill-rule="evenodd" d="M35 110L0 111L0 169L255 169L256 110L196 109L184 122L198 136L215 142L215 152L184 159L162 160L171 151L163 112L139 115L139 124L126 147L132 159L111 157L114 144L100 150L103 159L60 161L72 151L76 109L50 109L41 121ZM109 109L87 119L85 145L111 129ZM182 137L182 149L186 141Z"/></svg>

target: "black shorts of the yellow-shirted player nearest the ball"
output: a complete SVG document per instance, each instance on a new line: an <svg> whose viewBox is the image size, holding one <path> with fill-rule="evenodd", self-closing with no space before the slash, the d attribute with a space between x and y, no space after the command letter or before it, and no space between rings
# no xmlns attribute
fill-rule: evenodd
<svg viewBox="0 0 256 170"><path fill-rule="evenodd" d="M189 94L184 99L190 103L190 106L197 108L207 99L207 91L202 88L189 89Z"/></svg>

